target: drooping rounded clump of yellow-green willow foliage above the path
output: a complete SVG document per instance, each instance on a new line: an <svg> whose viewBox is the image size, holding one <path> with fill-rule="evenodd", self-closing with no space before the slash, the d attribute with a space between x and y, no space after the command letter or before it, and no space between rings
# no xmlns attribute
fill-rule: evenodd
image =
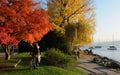
<svg viewBox="0 0 120 75"><path fill-rule="evenodd" d="M65 38L70 47L83 46L93 41L94 28L87 20L79 20L65 27Z"/></svg>

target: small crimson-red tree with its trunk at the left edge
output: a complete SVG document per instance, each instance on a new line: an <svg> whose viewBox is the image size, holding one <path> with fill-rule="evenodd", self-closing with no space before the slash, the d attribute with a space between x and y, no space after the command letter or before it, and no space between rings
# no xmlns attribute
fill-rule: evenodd
<svg viewBox="0 0 120 75"><path fill-rule="evenodd" d="M9 28L0 27L0 45L5 50L5 59L10 59L10 46L17 45L18 41L10 33L13 31Z"/></svg>

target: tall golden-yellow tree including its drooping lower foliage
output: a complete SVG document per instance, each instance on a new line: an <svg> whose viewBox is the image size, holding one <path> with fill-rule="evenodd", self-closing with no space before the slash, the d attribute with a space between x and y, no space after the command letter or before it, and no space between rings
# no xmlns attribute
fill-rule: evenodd
<svg viewBox="0 0 120 75"><path fill-rule="evenodd" d="M94 4L92 0L48 0L48 14L56 30L61 29L71 45L92 42Z"/></svg>

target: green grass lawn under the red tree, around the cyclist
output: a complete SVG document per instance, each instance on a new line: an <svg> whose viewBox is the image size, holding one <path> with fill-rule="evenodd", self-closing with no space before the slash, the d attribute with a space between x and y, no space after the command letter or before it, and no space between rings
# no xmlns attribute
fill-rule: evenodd
<svg viewBox="0 0 120 75"><path fill-rule="evenodd" d="M21 59L21 63L16 68L0 68L0 75L87 75L77 69L65 70L55 66L41 65L36 70L30 70L29 53L20 53L12 57L11 60L5 61L0 59L0 64L9 64L14 63L17 60Z"/></svg>

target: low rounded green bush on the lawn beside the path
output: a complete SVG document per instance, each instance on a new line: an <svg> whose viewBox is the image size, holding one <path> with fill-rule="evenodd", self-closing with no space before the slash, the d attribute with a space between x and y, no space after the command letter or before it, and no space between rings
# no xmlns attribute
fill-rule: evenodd
<svg viewBox="0 0 120 75"><path fill-rule="evenodd" d="M47 64L62 68L70 68L76 65L76 60L72 56L55 48L51 48L45 53L45 59Z"/></svg>

